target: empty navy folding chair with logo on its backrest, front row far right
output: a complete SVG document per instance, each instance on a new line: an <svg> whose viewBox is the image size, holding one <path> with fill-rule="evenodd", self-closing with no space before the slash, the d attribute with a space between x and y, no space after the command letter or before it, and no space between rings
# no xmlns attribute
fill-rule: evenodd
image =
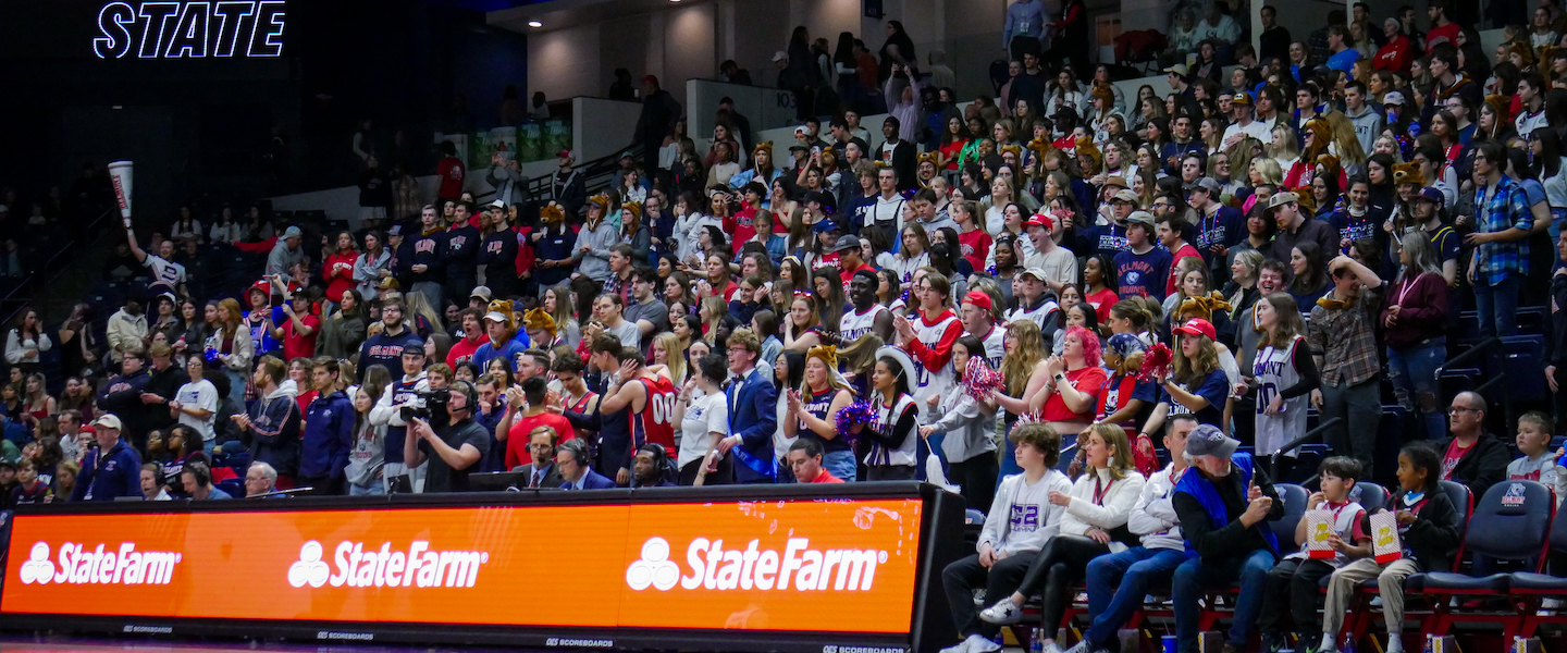
<svg viewBox="0 0 1567 653"><path fill-rule="evenodd" d="M1498 561L1526 564L1534 559L1534 572L1539 572L1550 547L1554 517L1556 496L1550 487L1534 481L1503 481L1486 490L1476 506L1464 534L1464 547ZM1507 612L1467 612L1449 606L1453 597L1506 597L1511 586L1511 573L1471 576L1431 572L1420 589L1407 592L1431 598L1435 620L1429 633L1446 634L1454 623L1501 623L1503 640L1511 642L1523 625L1518 604L1507 601Z"/></svg>

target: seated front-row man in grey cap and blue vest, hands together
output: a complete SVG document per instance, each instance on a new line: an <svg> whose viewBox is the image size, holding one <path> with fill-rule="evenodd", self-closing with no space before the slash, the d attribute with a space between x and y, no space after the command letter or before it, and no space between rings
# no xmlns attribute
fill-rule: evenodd
<svg viewBox="0 0 1567 653"><path fill-rule="evenodd" d="M1235 453L1239 445L1213 424L1199 426L1186 440L1183 456L1192 470L1182 474L1172 500L1192 554L1171 579L1182 653L1197 653L1203 587L1230 583L1239 583L1241 592L1225 648L1244 648L1257 626L1268 572L1279 562L1279 540L1268 521L1283 517L1283 501L1268 473L1249 454Z"/></svg>

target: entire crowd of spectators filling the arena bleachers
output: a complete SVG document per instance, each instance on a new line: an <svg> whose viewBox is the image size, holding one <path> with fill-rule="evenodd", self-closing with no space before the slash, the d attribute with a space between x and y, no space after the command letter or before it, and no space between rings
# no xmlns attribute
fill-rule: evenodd
<svg viewBox="0 0 1567 653"><path fill-rule="evenodd" d="M9 332L6 506L923 479L984 525L946 653L1025 615L1108 650L1149 593L1183 653L1219 612L1225 650L1329 651L1368 587L1399 651L1406 595L1554 587L1501 572L1564 572L1561 9L1495 60L1446 0L1305 41L1265 6L1260 52L1180 9L1172 92L1127 97L1083 5L1039 3L967 105L901 27L799 28L791 143L726 99L700 152L622 75L642 150L608 188L498 157L475 199L447 147L359 229L127 229L64 324Z"/></svg>

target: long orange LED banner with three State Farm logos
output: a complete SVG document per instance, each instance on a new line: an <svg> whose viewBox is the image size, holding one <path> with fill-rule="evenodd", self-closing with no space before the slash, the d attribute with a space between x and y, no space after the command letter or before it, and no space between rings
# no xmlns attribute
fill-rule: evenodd
<svg viewBox="0 0 1567 653"><path fill-rule="evenodd" d="M20 514L5 614L910 631L923 501Z"/></svg>

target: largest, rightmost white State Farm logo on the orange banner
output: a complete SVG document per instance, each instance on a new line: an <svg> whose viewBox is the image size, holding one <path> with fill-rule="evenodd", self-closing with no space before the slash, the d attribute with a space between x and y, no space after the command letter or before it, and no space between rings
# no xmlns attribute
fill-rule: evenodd
<svg viewBox="0 0 1567 653"><path fill-rule="evenodd" d="M790 537L782 553L762 548L762 540L751 540L746 548L724 548L721 539L697 537L686 547L685 570L669 559L669 550L663 537L642 542L642 557L625 568L625 586L636 592L671 590L677 584L713 590L788 590L793 584L798 592L865 592L876 583L876 567L887 564L884 550L818 550L807 537Z"/></svg>

